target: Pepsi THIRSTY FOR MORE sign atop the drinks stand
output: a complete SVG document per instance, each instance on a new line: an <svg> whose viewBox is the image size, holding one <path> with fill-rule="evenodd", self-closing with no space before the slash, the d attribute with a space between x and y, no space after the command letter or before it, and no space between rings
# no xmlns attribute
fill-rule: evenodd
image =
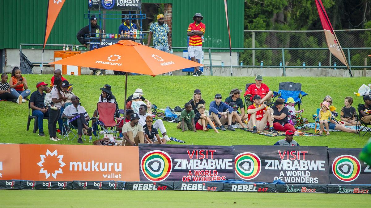
<svg viewBox="0 0 371 208"><path fill-rule="evenodd" d="M89 10L140 11L142 0L88 0Z"/></svg>

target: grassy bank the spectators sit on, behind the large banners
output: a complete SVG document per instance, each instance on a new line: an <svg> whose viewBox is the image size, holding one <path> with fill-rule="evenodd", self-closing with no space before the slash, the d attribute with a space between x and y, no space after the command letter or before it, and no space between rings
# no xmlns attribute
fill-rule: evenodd
<svg viewBox="0 0 371 208"><path fill-rule="evenodd" d="M10 75L9 75L10 76ZM51 74L47 75L25 75L31 91L36 90L35 84L39 81L50 83ZM96 108L96 103L104 84L111 84L112 91L116 96L119 107L124 107L124 76L65 76L73 84L73 92L81 98L83 107L92 116ZM352 96L354 106L363 102L361 97L356 97L353 92L358 90L362 84L368 84L370 79L360 78L335 78L335 77L265 77L263 82L271 90L277 91L278 84L284 81L302 83L302 90L309 93L303 98L303 116L312 121L312 114L325 95L331 95L334 105L340 112L344 106L344 98ZM128 95L131 95L135 88L142 88L144 97L156 104L159 108L170 106L174 108L192 98L195 88L202 91L202 97L206 101L206 108L209 108L210 101L213 101L216 93L221 93L224 99L229 96L232 88L244 90L246 83L254 82L253 77L192 77L192 76L129 76ZM39 137L32 133L33 123L30 131L26 131L27 125L27 103L17 105L10 102L0 102L0 142L8 143L27 143L27 144L77 144L73 141L50 141L47 132L47 122L44 121L44 132L46 137ZM176 124L165 122L168 135L186 141L185 144L194 145L272 145L283 137L266 137L263 135L252 134L250 132L236 130L235 132L226 131L216 135L213 131L209 132L181 132L176 129ZM309 131L309 132L314 132ZM345 132L330 132L327 137L295 137L300 145L359 148L367 141L368 137ZM85 142L85 145L91 143ZM174 144L174 142L169 142ZM180 143L177 143L180 144Z"/></svg>

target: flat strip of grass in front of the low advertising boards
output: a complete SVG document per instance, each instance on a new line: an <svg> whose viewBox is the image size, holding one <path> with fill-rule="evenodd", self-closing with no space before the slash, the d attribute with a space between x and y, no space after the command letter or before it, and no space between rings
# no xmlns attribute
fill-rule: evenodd
<svg viewBox="0 0 371 208"><path fill-rule="evenodd" d="M201 191L0 191L1 207L366 207L369 195ZM85 197L84 197L85 196ZM89 196L89 197L86 197ZM315 198L315 200L313 200Z"/></svg>

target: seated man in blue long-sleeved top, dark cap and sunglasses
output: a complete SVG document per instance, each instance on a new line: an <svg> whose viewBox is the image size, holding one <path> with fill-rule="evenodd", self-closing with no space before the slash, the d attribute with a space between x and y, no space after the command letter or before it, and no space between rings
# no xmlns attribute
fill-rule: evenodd
<svg viewBox="0 0 371 208"><path fill-rule="evenodd" d="M226 131L226 128L224 127L224 124L226 123L228 124L228 130L236 131L232 127L232 119L236 119L242 125L242 128L246 128L237 112L233 112L233 107L221 101L221 94L216 94L214 101L210 103L209 117L222 131Z"/></svg>

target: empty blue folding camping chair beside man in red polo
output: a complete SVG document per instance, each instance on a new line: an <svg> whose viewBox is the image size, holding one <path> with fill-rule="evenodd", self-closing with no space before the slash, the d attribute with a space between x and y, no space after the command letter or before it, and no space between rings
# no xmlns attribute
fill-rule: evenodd
<svg viewBox="0 0 371 208"><path fill-rule="evenodd" d="M298 110L300 110L302 98L305 95L308 95L308 93L301 90L301 83L281 82L279 83L278 92L273 92L273 101L276 96L285 99L285 101L287 101L287 98L292 97L295 101L294 105L298 105Z"/></svg>

